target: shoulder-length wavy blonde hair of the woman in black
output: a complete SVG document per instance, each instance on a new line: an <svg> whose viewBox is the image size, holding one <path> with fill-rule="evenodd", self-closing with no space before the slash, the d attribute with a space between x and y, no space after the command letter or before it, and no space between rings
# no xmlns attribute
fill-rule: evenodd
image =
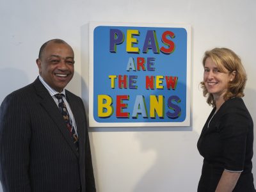
<svg viewBox="0 0 256 192"><path fill-rule="evenodd" d="M214 48L211 51L205 51L203 59L204 66L207 58L211 58L221 72L227 72L227 70L229 73L236 72L234 79L228 83L227 92L223 96L224 100L228 100L232 97L243 97L247 77L239 56L237 56L234 51L227 48ZM204 81L200 84L203 89L204 97L207 97L207 103L215 107L212 93L207 92Z"/></svg>

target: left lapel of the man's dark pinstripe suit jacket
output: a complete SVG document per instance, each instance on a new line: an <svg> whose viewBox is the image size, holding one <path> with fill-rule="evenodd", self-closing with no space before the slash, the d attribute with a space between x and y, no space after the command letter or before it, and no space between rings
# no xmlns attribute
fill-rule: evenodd
<svg viewBox="0 0 256 192"><path fill-rule="evenodd" d="M44 87L44 85L41 83L41 81L38 78L34 83L35 83L35 90L37 95L39 95L42 98L42 100L40 100L40 104L45 109L45 111L47 111L49 116L51 116L52 120L57 125L56 127L60 129L61 134L63 134L68 145L70 145L70 147L72 148L76 156L78 156L76 147L72 141L72 137L68 132L67 125L65 124L63 117L61 116L58 106L56 106L56 103L52 99L51 95L49 94L47 89Z"/></svg>

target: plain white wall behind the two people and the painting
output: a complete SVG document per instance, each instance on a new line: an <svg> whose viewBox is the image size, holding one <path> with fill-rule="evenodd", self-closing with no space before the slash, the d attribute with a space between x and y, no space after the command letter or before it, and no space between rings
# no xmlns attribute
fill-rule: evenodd
<svg viewBox="0 0 256 192"><path fill-rule="evenodd" d="M196 191L202 167L196 142L211 111L198 86L205 50L225 46L241 56L248 73L244 100L256 124L255 7L255 0L1 0L0 102L34 81L40 45L62 38L76 54L76 74L68 89L88 107L85 42L90 21L191 24L191 127L93 128L90 140L100 192ZM256 178L255 167L253 173Z"/></svg>

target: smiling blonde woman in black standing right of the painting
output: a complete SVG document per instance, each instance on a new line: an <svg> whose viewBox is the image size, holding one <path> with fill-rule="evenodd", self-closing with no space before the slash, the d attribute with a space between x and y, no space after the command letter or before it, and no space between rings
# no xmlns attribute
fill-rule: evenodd
<svg viewBox="0 0 256 192"><path fill-rule="evenodd" d="M201 86L213 107L197 143L204 157L198 191L255 191L253 121L244 105L246 73L227 48L206 51Z"/></svg>

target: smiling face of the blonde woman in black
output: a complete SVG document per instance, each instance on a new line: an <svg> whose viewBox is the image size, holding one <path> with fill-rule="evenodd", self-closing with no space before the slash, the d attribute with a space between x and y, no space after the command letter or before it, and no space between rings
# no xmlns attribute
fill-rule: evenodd
<svg viewBox="0 0 256 192"><path fill-rule="evenodd" d="M205 60L204 65L204 84L208 93L212 93L214 99L223 97L227 92L228 82L234 79L234 73L221 72L216 63L211 58Z"/></svg>

